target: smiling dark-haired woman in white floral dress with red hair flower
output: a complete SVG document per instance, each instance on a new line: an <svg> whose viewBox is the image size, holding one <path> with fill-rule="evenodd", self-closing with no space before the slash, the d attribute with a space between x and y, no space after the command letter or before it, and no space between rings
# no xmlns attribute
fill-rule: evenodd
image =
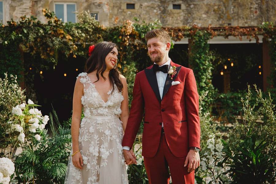
<svg viewBox="0 0 276 184"><path fill-rule="evenodd" d="M101 42L90 46L89 56L75 83L72 150L64 183L128 184L121 146L129 115L128 88L116 68L117 46Z"/></svg>

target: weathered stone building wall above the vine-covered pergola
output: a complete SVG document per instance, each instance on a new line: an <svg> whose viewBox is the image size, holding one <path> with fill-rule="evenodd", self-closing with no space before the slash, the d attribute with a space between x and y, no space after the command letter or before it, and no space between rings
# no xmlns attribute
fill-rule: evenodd
<svg viewBox="0 0 276 184"><path fill-rule="evenodd" d="M54 11L57 3L74 4L79 12L89 10L105 26L120 25L133 17L146 22L159 19L164 27L276 23L276 0L0 0L2 19L18 21L22 15L34 15L46 22L42 9Z"/></svg>

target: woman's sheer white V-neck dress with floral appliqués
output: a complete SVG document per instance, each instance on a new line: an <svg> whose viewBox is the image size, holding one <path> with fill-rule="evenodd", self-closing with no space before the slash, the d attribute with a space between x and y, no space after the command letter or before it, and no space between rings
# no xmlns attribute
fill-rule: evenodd
<svg viewBox="0 0 276 184"><path fill-rule="evenodd" d="M104 102L87 73L81 73L84 86L81 98L84 117L79 128L79 150L82 170L75 167L69 156L66 184L128 184L123 156L123 127L119 119L124 97L117 86ZM77 78L78 78L77 77Z"/></svg>

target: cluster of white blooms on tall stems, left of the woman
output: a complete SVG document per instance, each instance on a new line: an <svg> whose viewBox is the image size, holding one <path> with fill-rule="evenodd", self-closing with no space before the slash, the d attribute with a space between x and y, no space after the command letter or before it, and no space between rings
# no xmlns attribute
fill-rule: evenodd
<svg viewBox="0 0 276 184"><path fill-rule="evenodd" d="M11 124L13 131L19 132L17 140L24 143L26 135L33 135L36 132L42 132L45 125L48 123L49 117L42 116L40 110L36 109L36 105L32 100L28 100L28 104L22 103L16 105L12 109L13 116L10 118L8 124ZM36 140L40 140L40 134L34 135Z"/></svg>

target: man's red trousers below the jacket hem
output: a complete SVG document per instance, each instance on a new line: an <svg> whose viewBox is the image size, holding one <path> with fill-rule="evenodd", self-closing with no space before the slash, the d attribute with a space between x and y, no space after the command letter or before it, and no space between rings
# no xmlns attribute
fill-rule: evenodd
<svg viewBox="0 0 276 184"><path fill-rule="evenodd" d="M162 133L157 153L152 158L144 157L144 164L150 184L169 184L170 168L173 184L194 184L194 171L189 173L184 167L185 157L174 156L167 144L165 134Z"/></svg>

